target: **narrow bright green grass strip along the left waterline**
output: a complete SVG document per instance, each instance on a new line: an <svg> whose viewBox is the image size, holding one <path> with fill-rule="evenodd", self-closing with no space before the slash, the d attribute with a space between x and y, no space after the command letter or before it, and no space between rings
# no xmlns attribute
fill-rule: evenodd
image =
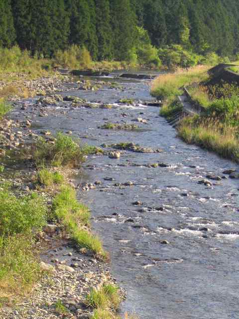
<svg viewBox="0 0 239 319"><path fill-rule="evenodd" d="M76 199L76 191L63 186L53 200L52 217L62 223L79 248L87 248L94 254L107 258L101 241L82 226L89 226L90 211Z"/></svg>

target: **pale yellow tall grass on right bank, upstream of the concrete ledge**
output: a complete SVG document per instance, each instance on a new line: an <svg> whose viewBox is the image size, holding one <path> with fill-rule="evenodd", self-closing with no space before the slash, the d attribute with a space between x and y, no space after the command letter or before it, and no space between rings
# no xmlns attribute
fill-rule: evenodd
<svg viewBox="0 0 239 319"><path fill-rule="evenodd" d="M208 78L208 70L208 66L198 65L187 70L180 69L174 73L159 75L152 84L151 94L170 103L177 95L182 94L184 86L205 81Z"/></svg>

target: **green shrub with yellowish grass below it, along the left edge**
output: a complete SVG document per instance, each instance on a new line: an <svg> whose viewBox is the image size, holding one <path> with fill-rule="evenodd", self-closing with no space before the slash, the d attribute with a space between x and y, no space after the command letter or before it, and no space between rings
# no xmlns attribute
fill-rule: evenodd
<svg viewBox="0 0 239 319"><path fill-rule="evenodd" d="M0 185L0 297L21 294L40 275L33 232L46 224L47 207L36 195L17 198Z"/></svg>

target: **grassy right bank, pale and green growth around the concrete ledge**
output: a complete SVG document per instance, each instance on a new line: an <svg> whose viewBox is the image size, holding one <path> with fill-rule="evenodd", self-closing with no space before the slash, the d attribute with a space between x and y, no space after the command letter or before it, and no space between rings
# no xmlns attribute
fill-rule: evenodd
<svg viewBox="0 0 239 319"><path fill-rule="evenodd" d="M162 75L152 85L152 94L164 100L160 115L170 119L182 109L176 102L187 85L192 101L206 108L203 116L184 118L178 126L179 136L218 155L239 162L239 88L236 84L207 85L207 67L189 72Z"/></svg>

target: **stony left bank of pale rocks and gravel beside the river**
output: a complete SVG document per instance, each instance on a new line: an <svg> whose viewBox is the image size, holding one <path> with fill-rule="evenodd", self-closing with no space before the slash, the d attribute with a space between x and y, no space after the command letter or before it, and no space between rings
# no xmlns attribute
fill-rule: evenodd
<svg viewBox="0 0 239 319"><path fill-rule="evenodd" d="M68 88L69 78L65 77L64 80L63 84L58 76L53 76L28 81L27 85L28 87L39 89L41 94L44 93L44 95L49 95L56 91L59 93L63 90L64 92L74 90L74 88ZM85 84L86 82L78 81L76 87L78 88L82 83ZM87 83L89 84L89 81ZM73 83L71 82L71 84ZM18 99L20 100L20 97ZM6 119L1 121L0 126L1 191L5 191L4 184L7 182L7 184L10 184L11 190L9 191L16 198L27 198L27 196L31 196L30 194L34 192L35 194L39 194L44 199L44 202L47 202L48 211L51 211L57 193L61 192L61 188L59 188L61 185L48 185L46 183L47 180L45 181L45 185L43 181L39 183L39 173L42 170L36 166L32 150L38 143L39 138L45 137L49 143L54 143L54 137L47 130L36 132L38 121L32 121L29 116L29 101L25 100L18 103L15 101L15 96L12 97L12 100L14 100L14 108L7 115ZM59 101L63 102L63 97L55 94L50 97L42 96L41 98L34 98L34 100L36 102L33 111L34 117L54 117L55 112L51 112L48 105L49 103L56 105ZM71 139L70 135L71 133L68 132L69 139ZM58 167L54 168L52 173L54 171L58 175L59 172L61 173L61 178L64 179L62 184L69 185L66 187L72 187L72 189L78 191L83 191L85 188L95 188L98 184L97 182L95 185L74 183L75 176L83 172L83 168L81 167L77 169ZM3 204L4 201L2 202ZM20 222L19 220L19 225ZM90 296L94 289L100 292L102 287L115 287L116 280L111 275L110 265L102 260L102 258L99 258L101 257L100 255L97 256L94 251L91 251L90 247L88 248L88 246L84 245L82 248L76 247L72 243L72 238L68 234L67 229L64 229L63 225L59 224L59 222L51 224L48 222L48 225L34 236L36 237L36 243L34 244L33 252L37 256L40 272L43 272L43 276L41 275L42 279L37 280L37 284L34 284L33 287L32 285L27 285L29 287L26 287L26 289L18 290L15 285L14 287L3 285L1 275L0 285L3 290L0 292L0 318L38 319L59 318L60 316L61 318L86 319L98 316L100 312L103 312L101 316L110 316L111 314L114 317L114 314L108 310L108 301L99 308L99 314L97 313L98 308L94 312L95 306L93 308L88 307L86 302L86 297ZM24 263L28 263L28 261L24 260ZM118 288L116 292L121 297L114 295L114 298L121 299L125 296L125 293L118 291ZM114 294L116 293L114 292ZM114 309L113 301L110 307L112 310Z"/></svg>

